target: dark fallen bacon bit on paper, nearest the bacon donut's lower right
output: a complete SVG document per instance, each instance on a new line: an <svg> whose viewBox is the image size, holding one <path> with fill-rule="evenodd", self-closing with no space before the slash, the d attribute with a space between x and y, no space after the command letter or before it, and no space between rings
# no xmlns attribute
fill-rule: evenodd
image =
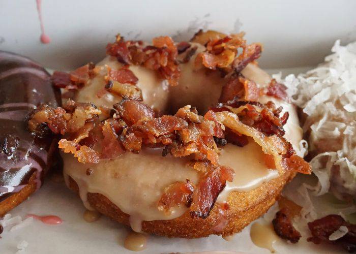
<svg viewBox="0 0 356 254"><path fill-rule="evenodd" d="M302 237L301 234L293 227L292 221L288 213L281 209L276 213L276 217L272 220L276 234L291 243L297 243Z"/></svg>

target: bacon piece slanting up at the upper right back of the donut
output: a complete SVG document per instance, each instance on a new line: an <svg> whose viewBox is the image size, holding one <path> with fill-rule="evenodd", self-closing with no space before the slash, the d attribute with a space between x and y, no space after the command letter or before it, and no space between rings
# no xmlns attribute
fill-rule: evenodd
<svg viewBox="0 0 356 254"><path fill-rule="evenodd" d="M243 47L243 52L235 58L232 63L235 72L239 73L245 69L245 67L261 56L262 46L259 43L252 43Z"/></svg>

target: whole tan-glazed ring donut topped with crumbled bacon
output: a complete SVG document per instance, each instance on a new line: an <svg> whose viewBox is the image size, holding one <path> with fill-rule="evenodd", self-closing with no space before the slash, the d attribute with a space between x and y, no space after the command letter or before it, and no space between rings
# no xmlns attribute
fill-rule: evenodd
<svg viewBox="0 0 356 254"><path fill-rule="evenodd" d="M244 48L240 56L233 43ZM252 62L260 45L245 43L215 31L179 44L118 36L103 61L71 72L67 85L60 81L68 74L54 73L58 85L78 87L63 119L73 124L75 112L90 112L60 141L66 183L87 209L137 232L231 235L268 210L296 171L310 173L294 151L302 130L285 89ZM270 118L252 127L246 112Z"/></svg>

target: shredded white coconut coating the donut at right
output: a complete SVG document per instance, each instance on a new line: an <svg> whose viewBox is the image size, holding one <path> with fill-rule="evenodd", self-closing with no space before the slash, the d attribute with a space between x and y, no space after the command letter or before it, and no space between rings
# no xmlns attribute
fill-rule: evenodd
<svg viewBox="0 0 356 254"><path fill-rule="evenodd" d="M300 74L273 75L284 83L292 102L303 109L309 135L316 195L356 196L356 42L335 42L332 55L317 68ZM319 154L318 154L319 153Z"/></svg>

